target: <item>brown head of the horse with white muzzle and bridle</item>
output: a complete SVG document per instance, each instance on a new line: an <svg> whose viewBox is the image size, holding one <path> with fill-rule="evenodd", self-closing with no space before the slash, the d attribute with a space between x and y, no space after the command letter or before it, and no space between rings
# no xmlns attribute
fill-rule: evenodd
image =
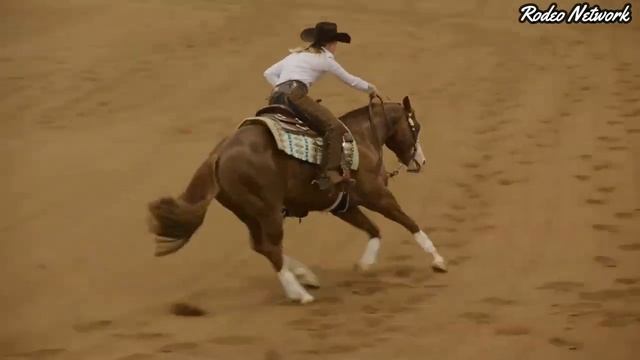
<svg viewBox="0 0 640 360"><path fill-rule="evenodd" d="M420 172L427 160L418 139L420 124L408 96L402 99L402 111L394 113L391 119L392 130L385 145L407 166L407 171Z"/></svg>

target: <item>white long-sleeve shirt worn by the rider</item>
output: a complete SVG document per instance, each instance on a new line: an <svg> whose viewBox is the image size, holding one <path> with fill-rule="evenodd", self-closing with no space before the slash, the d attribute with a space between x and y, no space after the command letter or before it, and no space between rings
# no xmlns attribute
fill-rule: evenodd
<svg viewBox="0 0 640 360"><path fill-rule="evenodd" d="M291 53L268 68L264 72L264 77L272 86L288 80L298 80L311 88L311 85L327 72L336 75L345 84L355 89L363 92L369 89L368 82L349 74L326 49L322 49L319 54L306 51Z"/></svg>

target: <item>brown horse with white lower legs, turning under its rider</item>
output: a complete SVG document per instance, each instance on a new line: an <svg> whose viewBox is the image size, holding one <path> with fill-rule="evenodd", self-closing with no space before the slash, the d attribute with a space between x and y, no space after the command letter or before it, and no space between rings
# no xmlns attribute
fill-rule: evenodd
<svg viewBox="0 0 640 360"><path fill-rule="evenodd" d="M330 211L368 235L357 262L362 270L376 263L381 244L380 230L361 210L365 208L402 225L431 254L433 270L446 272L446 262L431 239L388 189L389 178L394 174L386 171L382 161L383 146L387 146L408 172L421 172L426 160L418 139L421 126L416 112L408 96L402 103L373 100L339 117L352 136L358 155L357 168L351 171L354 181L343 191L319 190L313 184L318 162L301 161L282 151L274 141L276 132L270 131L264 121L243 122L214 147L181 195L161 197L148 204L155 255L165 256L181 249L202 225L207 208L216 199L247 226L253 250L270 261L286 297L294 302L312 302L314 297L306 288L319 287L319 281L306 265L283 253L283 222L286 217L302 218L309 212ZM288 124L290 131L283 134L290 136L297 128L299 136L315 139L312 146L318 144L319 137L305 128L295 113L273 110L273 106L265 107L256 115L281 113L271 116L271 120L278 120L271 125L282 130ZM349 171L347 167L343 170ZM339 203L341 209L337 209Z"/></svg>

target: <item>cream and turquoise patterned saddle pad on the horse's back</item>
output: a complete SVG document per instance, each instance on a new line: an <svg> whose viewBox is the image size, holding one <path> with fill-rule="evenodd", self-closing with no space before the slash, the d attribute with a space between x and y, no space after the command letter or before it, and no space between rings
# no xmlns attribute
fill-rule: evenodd
<svg viewBox="0 0 640 360"><path fill-rule="evenodd" d="M262 123L271 131L273 138L278 145L278 149L286 154L312 164L320 164L322 160L322 138L318 136L309 136L304 134L296 134L286 131L279 121L266 116L253 116L246 118L240 123L238 128L248 124ZM347 131L349 131L347 129ZM345 160L351 170L358 170L360 162L358 145L353 139L351 150L345 151Z"/></svg>

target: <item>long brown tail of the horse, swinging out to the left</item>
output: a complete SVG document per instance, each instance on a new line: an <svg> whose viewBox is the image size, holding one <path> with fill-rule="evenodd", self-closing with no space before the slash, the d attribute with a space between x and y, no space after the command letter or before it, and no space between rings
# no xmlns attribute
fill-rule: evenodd
<svg viewBox="0 0 640 360"><path fill-rule="evenodd" d="M221 141L191 178L178 198L161 197L149 203L149 231L156 235L156 256L173 254L185 246L204 221L218 194L218 149Z"/></svg>

